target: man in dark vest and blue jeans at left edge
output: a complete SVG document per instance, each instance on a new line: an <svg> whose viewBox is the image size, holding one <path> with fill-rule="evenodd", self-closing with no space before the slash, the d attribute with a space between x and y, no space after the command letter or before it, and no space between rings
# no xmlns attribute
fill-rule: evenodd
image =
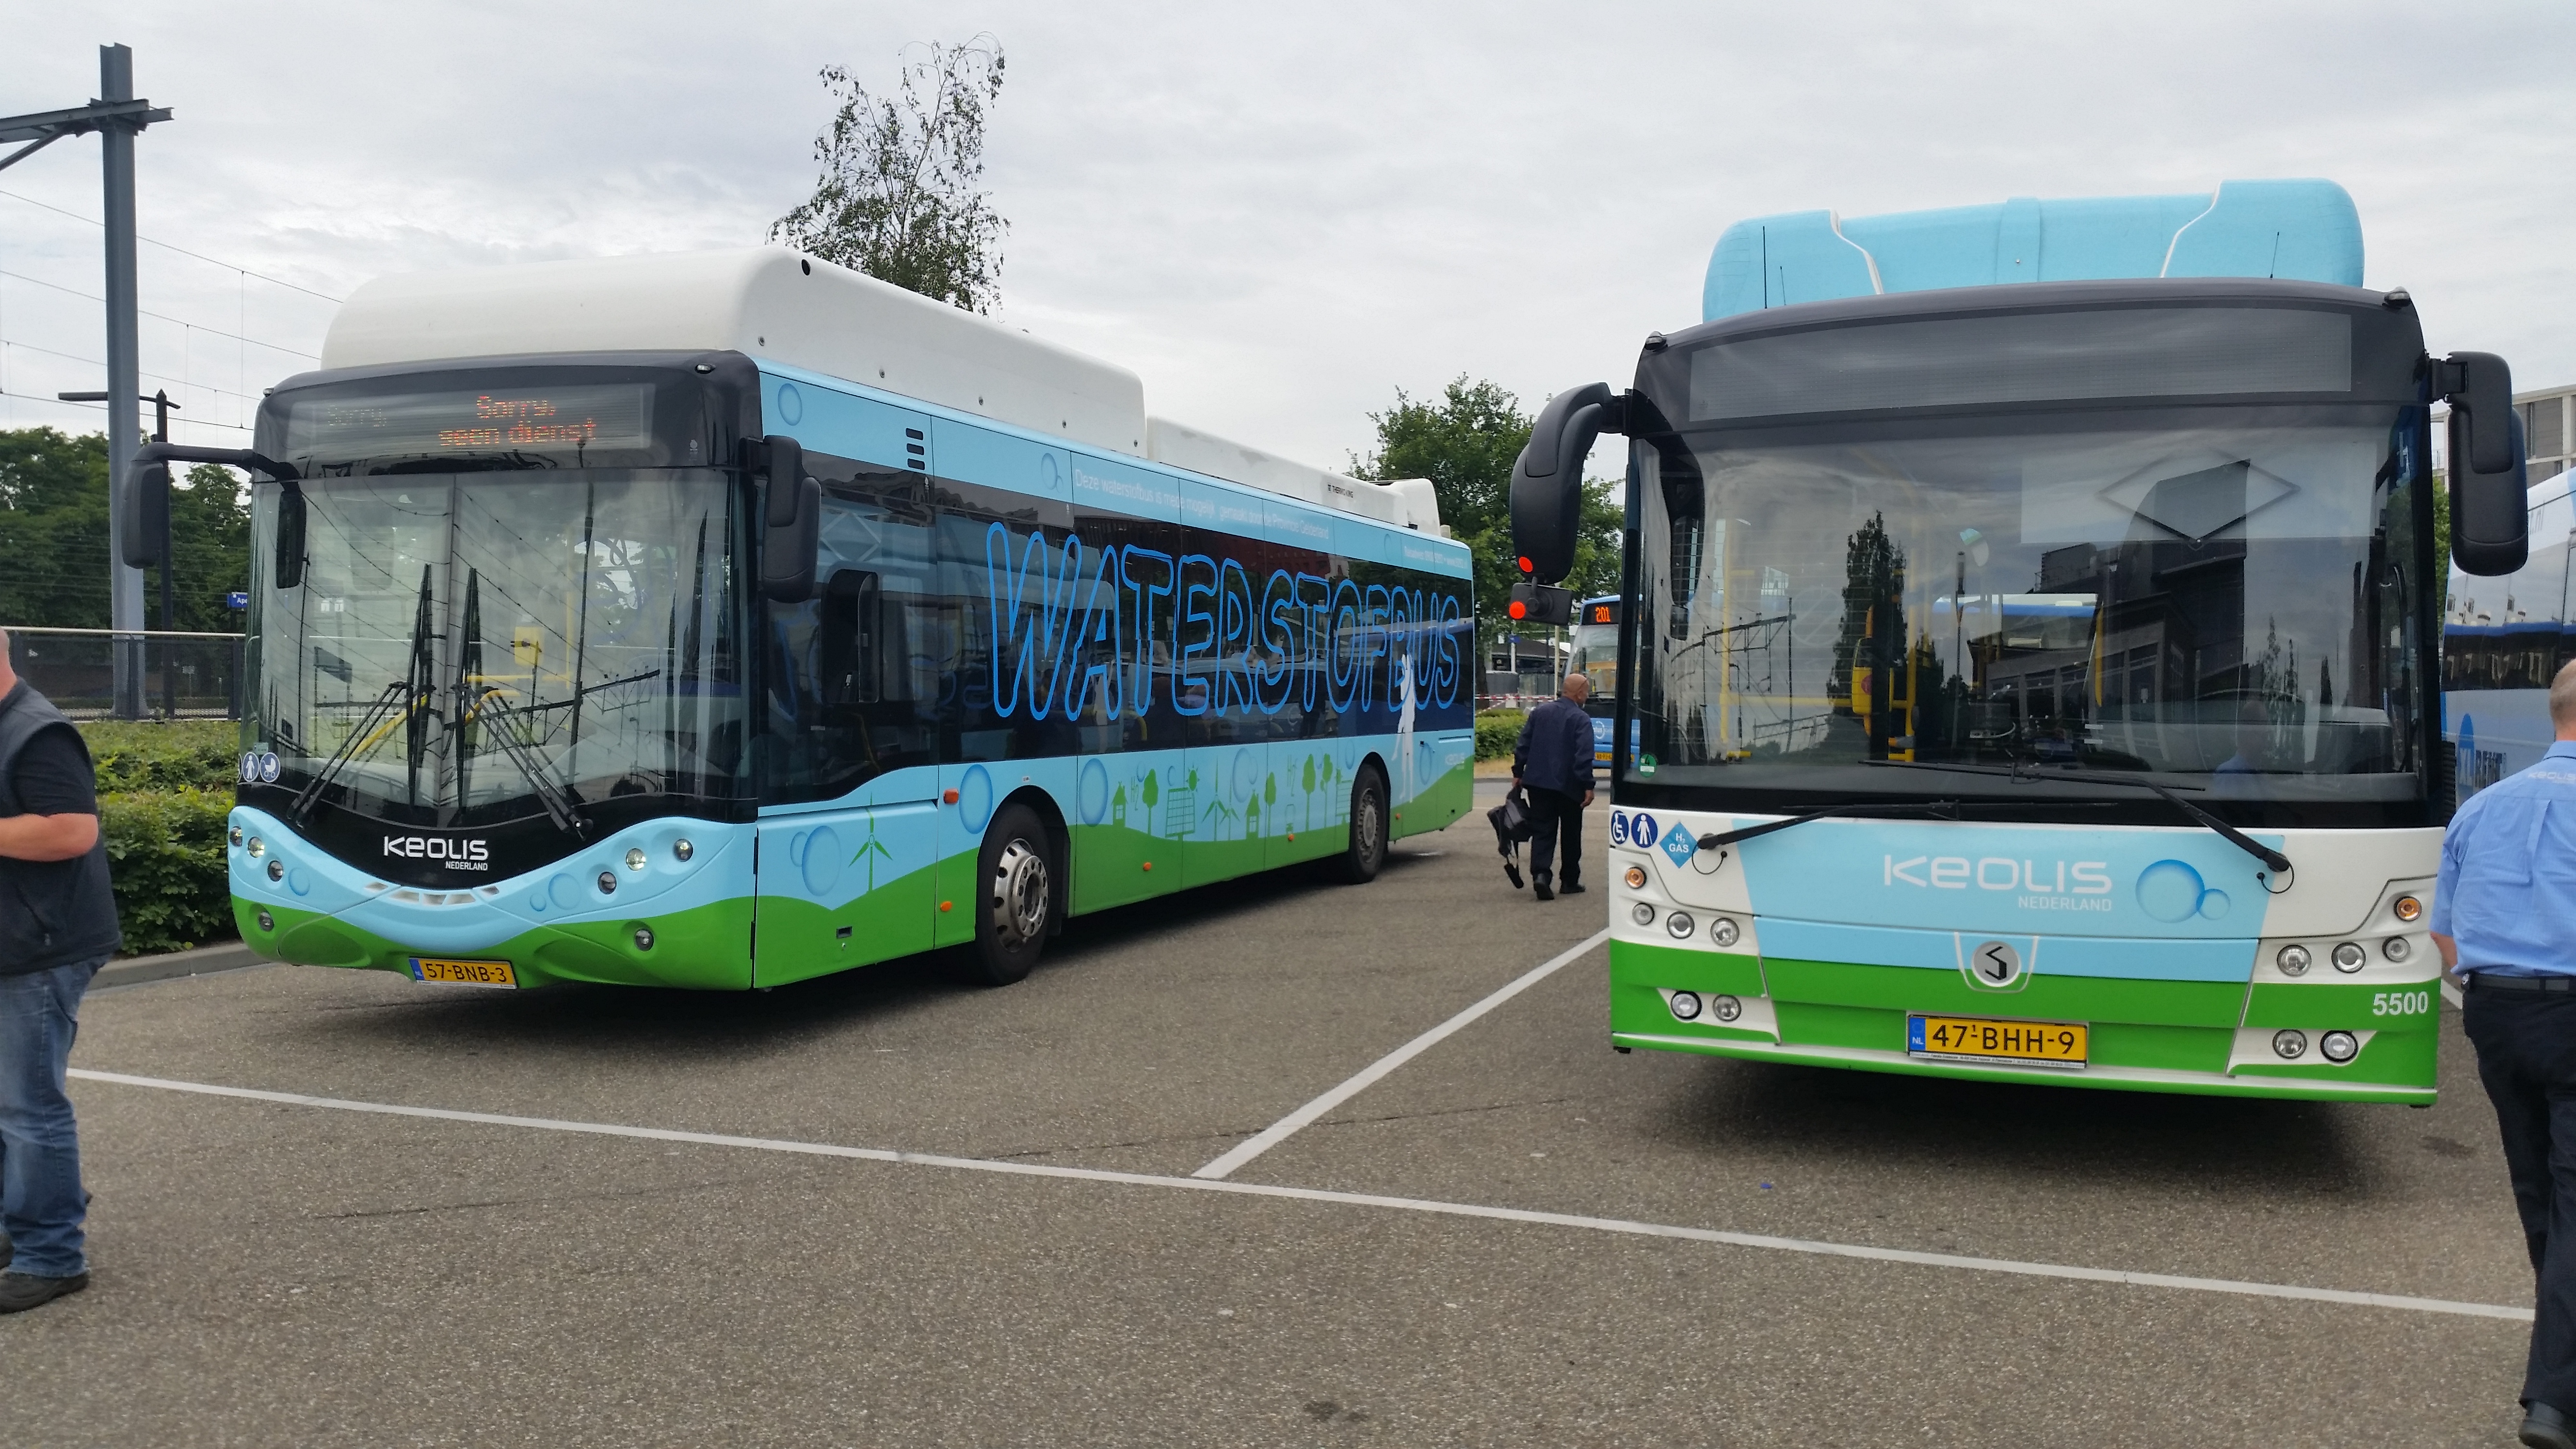
<svg viewBox="0 0 2576 1449"><path fill-rule="evenodd" d="M0 1312L90 1287L88 1194L62 1073L80 993L116 944L90 750L18 678L0 632Z"/></svg>

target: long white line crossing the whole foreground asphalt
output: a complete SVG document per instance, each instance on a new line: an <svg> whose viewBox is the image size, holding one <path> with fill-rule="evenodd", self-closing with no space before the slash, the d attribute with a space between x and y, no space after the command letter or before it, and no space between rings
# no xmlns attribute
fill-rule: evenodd
<svg viewBox="0 0 2576 1449"><path fill-rule="evenodd" d="M242 1101L268 1101L278 1106L317 1106L330 1111L374 1111L381 1116L420 1116L430 1122L471 1122L482 1127L526 1127L536 1132L580 1132L590 1137L639 1137L647 1142L698 1142L706 1147L750 1147L755 1152L796 1152L806 1158L858 1158L863 1163L904 1163L920 1168L958 1168L969 1173L1007 1173L1020 1178L1064 1178L1084 1183L1123 1183L1144 1189L1213 1191L1234 1196L1270 1196L1293 1201L1327 1201L1337 1207L1378 1207L1396 1212L1432 1212L1443 1217L1479 1217L1489 1222L1530 1222L1540 1227L1582 1227L1589 1232L1620 1232L1631 1238L1680 1238L1685 1243L1721 1243L1726 1248L1762 1248L1772 1253L1816 1253L1824 1258L1860 1258L1870 1263L1906 1263L1917 1269L1965 1269L1978 1274L2012 1274L2027 1279L2074 1279L2087 1284L2125 1284L2146 1289L2213 1292L2239 1297L2275 1297L2298 1302L2336 1302L2347 1307L2393 1307L2403 1312L2445 1312L2460 1318L2501 1318L2530 1323L2532 1310L2501 1302L2452 1302L2439 1297L2367 1294L2349 1289L2311 1289L2300 1284L2254 1284L2239 1279L2192 1279L2182 1274L2130 1274L2123 1269L2079 1269L2069 1263L2017 1263L2012 1258L1971 1258L1965 1253L1914 1253L1906 1248L1868 1248L1857 1243L1819 1243L1814 1238L1772 1238L1767 1232L1721 1232L1713 1227L1672 1227L1664 1222L1631 1222L1623 1217L1584 1217L1574 1212L1530 1212L1522 1207L1479 1207L1468 1201L1432 1201L1419 1196L1381 1196L1360 1191L1291 1189L1275 1183L1229 1183L1213 1178L1167 1178L1157 1173L1113 1173L1103 1168L1061 1168L1048 1163L994 1163L987 1158L943 1158L935 1152L896 1152L889 1147L840 1147L832 1142L791 1142L781 1137L732 1137L724 1132L672 1132L667 1127L621 1127L613 1122L559 1122L551 1116L505 1116L497 1111L448 1111L440 1106L397 1106L386 1101L350 1101L337 1096L304 1096L291 1091L229 1088L211 1083L178 1083L167 1078L137 1078L126 1073L93 1073L72 1067L85 1083L113 1083L155 1091L183 1091L196 1096L229 1096Z"/></svg>

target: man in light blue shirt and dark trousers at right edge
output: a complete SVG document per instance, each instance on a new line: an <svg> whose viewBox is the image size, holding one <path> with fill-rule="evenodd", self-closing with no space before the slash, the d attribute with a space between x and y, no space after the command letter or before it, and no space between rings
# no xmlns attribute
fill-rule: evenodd
<svg viewBox="0 0 2576 1449"><path fill-rule="evenodd" d="M2537 766L2452 815L2432 941L2465 982L2532 1253L2522 1441L2576 1449L2576 663L2550 681L2550 732Z"/></svg>

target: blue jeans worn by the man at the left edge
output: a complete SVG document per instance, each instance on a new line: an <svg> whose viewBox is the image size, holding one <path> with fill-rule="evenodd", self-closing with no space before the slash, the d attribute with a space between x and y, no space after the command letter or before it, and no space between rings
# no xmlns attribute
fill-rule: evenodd
<svg viewBox="0 0 2576 1449"><path fill-rule="evenodd" d="M0 977L0 1227L18 1245L13 1274L88 1271L80 1134L62 1070L80 1031L80 993L103 964L106 957Z"/></svg>

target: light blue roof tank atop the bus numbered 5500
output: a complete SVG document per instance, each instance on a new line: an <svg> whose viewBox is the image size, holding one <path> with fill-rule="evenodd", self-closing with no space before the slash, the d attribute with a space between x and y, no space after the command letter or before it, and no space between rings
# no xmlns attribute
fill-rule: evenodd
<svg viewBox="0 0 2576 1449"><path fill-rule="evenodd" d="M2331 180L2221 180L2200 196L2014 196L1886 217L1752 217L1718 237L1700 320L1837 297L2125 276L2360 286L2362 217Z"/></svg>

